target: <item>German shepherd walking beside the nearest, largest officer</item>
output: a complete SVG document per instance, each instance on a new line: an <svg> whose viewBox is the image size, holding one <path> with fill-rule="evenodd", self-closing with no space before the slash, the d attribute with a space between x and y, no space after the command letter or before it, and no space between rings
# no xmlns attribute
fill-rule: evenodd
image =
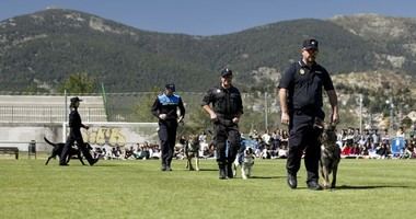
<svg viewBox="0 0 416 219"><path fill-rule="evenodd" d="M335 188L336 173L340 160L340 148L336 145L335 125L328 125L321 135L321 174L324 178L324 188L330 188L330 174L332 173L331 188Z"/></svg>

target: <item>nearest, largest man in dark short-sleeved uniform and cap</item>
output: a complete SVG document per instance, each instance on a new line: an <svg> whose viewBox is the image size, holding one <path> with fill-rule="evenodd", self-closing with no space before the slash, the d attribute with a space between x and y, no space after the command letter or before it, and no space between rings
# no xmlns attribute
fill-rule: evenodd
<svg viewBox="0 0 416 219"><path fill-rule="evenodd" d="M328 72L316 64L317 41L310 38L302 44L302 58L285 71L281 77L279 100L281 123L289 125L289 154L287 159L288 185L298 186L297 173L304 151L304 165L310 189L322 189L319 184L319 159L321 146L319 135L325 117L322 111L322 88L332 106L331 123L338 123L337 95Z"/></svg>

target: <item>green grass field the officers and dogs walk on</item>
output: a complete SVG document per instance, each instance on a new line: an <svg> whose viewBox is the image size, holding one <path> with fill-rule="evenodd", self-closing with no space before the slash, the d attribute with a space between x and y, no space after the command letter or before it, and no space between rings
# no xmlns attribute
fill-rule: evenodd
<svg viewBox="0 0 416 219"><path fill-rule="evenodd" d="M45 158L46 159L46 158ZM174 161L100 161L45 166L44 158L0 157L0 218L415 218L416 160L342 160L337 188L286 184L286 160L256 160L254 177L218 180L213 160L203 171Z"/></svg>

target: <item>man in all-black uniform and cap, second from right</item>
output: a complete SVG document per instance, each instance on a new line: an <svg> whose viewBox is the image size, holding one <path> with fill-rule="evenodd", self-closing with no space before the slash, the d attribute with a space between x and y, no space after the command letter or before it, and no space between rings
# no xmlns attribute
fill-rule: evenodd
<svg viewBox="0 0 416 219"><path fill-rule="evenodd" d="M209 104L212 104L212 107ZM230 69L221 71L221 83L208 90L201 105L213 123L219 178L232 178L231 166L240 148L239 120L243 114L243 104L240 91L232 85ZM228 151L227 140L229 141Z"/></svg>

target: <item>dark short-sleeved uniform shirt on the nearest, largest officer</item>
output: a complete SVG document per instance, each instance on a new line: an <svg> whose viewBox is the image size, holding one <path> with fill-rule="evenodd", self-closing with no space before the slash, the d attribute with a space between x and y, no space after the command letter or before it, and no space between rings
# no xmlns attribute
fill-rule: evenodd
<svg viewBox="0 0 416 219"><path fill-rule="evenodd" d="M317 64L293 62L281 77L279 89L287 89L289 110L321 108L322 88L334 90L330 73Z"/></svg>

